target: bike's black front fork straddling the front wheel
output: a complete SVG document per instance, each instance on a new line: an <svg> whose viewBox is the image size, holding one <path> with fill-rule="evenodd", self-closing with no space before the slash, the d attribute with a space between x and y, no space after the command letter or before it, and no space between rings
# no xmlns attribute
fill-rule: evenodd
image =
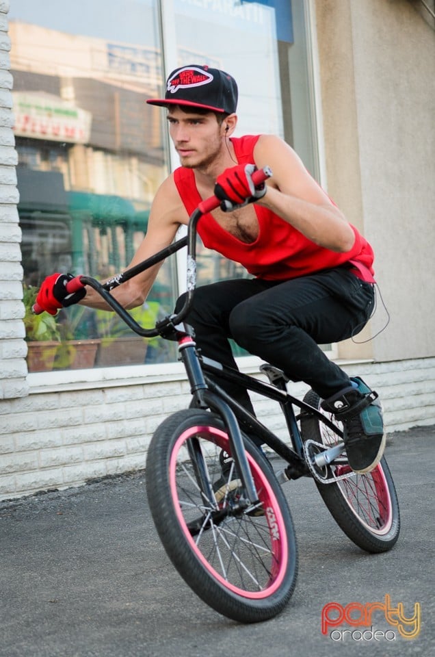
<svg viewBox="0 0 435 657"><path fill-rule="evenodd" d="M228 404L209 390L198 359L192 329L187 324L179 324L174 329L176 330L176 341L179 344L179 354L185 365L187 378L189 379L190 391L194 396L192 405L200 408L209 408L218 413L222 418L226 432L228 433L231 456L233 456L237 473L241 478L243 489L246 493L239 500L239 505L243 508L255 506L259 504L259 495L256 491L254 479L252 478L248 459L246 458L243 438L237 418ZM200 459L198 459L197 448L192 445L189 451L202 490L209 499L213 500L211 482L209 481L206 470L199 463Z"/></svg>

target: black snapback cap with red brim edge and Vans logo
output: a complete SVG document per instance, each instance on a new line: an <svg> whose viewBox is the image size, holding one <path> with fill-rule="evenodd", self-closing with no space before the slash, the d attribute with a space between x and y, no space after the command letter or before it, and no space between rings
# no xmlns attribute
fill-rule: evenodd
<svg viewBox="0 0 435 657"><path fill-rule="evenodd" d="M233 114L237 107L237 83L224 70L189 64L172 71L164 99L149 99L150 105L187 105L211 112Z"/></svg>

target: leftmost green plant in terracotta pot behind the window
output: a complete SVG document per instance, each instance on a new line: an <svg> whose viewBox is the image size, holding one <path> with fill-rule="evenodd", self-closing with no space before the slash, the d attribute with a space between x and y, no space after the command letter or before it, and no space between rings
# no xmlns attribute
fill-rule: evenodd
<svg viewBox="0 0 435 657"><path fill-rule="evenodd" d="M25 306L27 367L29 372L47 372L53 368L61 337L56 318L53 315L49 315L49 313L34 314L32 307L36 294L38 294L38 287L25 285L23 303Z"/></svg>

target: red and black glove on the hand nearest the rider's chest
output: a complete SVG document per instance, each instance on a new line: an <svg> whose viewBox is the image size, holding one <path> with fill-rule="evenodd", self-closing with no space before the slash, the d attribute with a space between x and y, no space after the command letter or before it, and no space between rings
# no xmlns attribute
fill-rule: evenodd
<svg viewBox="0 0 435 657"><path fill-rule="evenodd" d="M256 187L252 182L254 171L256 171L255 164L237 164L218 176L215 196L221 201L220 207L224 212L258 201L265 195L265 183Z"/></svg>

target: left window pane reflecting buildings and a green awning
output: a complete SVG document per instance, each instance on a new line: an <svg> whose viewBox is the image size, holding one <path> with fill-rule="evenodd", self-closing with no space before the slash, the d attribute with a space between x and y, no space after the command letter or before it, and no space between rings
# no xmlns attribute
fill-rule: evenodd
<svg viewBox="0 0 435 657"><path fill-rule="evenodd" d="M161 120L153 123L145 109L161 83L161 47L153 0L21 1L10 18L18 212L31 298L53 272L116 274L139 246L168 174ZM174 262L133 311L145 326L172 311ZM29 346L38 335L61 342L53 363L42 359L36 370L92 366L79 357L81 346L94 350L92 362L101 367L174 359L163 341L144 341L112 313L74 307L57 315L51 333L38 333L34 324L44 329L44 320L28 323Z"/></svg>

